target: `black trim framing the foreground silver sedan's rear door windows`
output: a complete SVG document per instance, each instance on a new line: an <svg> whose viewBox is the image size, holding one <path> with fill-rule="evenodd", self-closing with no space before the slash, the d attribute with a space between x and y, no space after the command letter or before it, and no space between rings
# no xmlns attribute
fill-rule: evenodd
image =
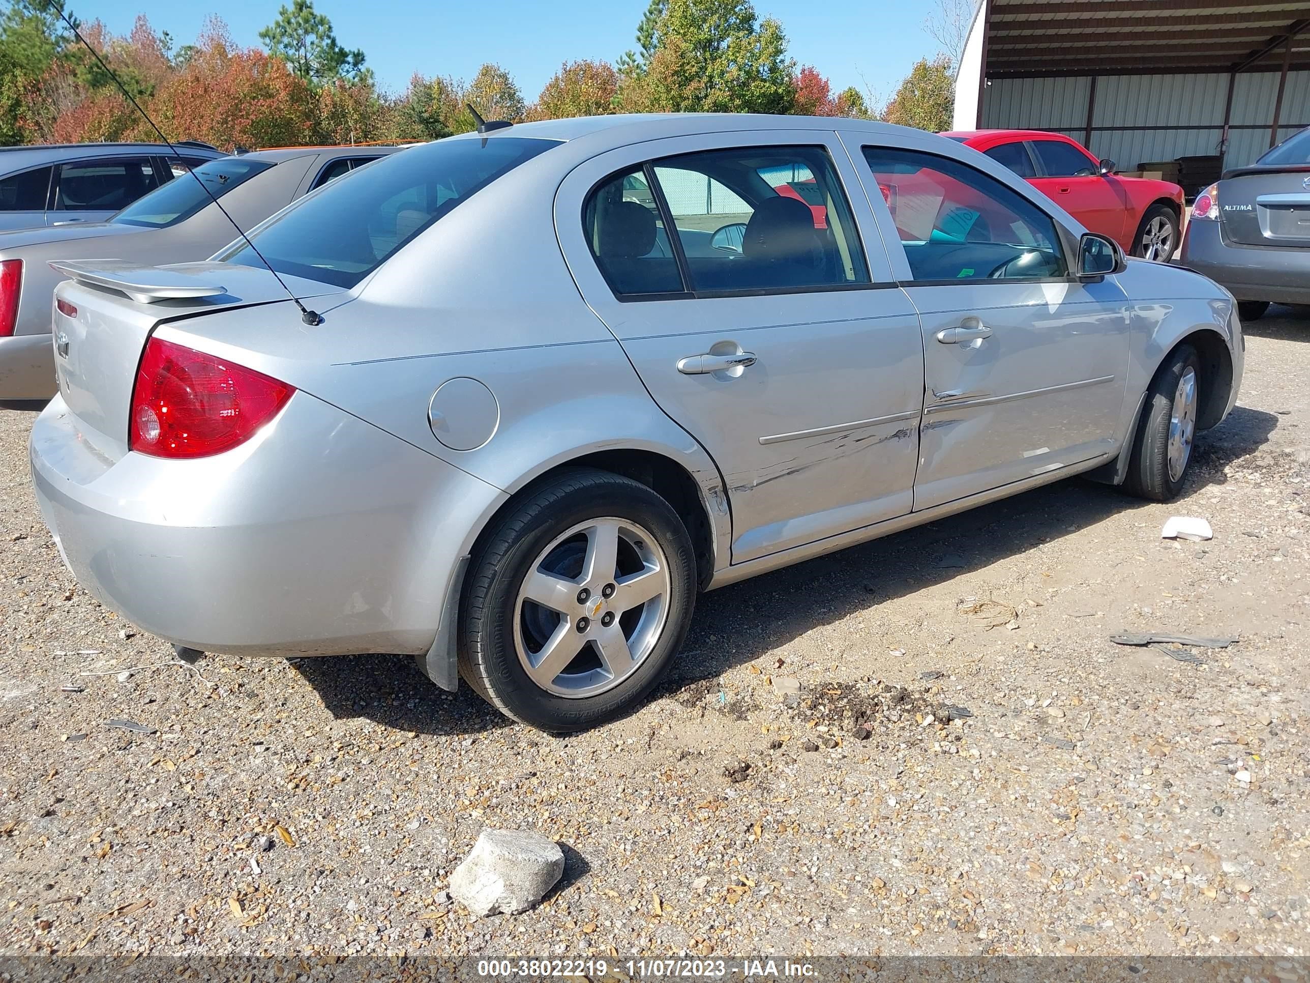
<svg viewBox="0 0 1310 983"><path fill-rule="evenodd" d="M669 248L673 250L673 258L677 262L677 275L683 280L681 291L663 291L659 294L618 294L605 271L600 266L600 261L596 253L591 249L590 237L587 236L587 206L591 203L592 197L597 190L612 182L614 178L621 176L627 176L635 172L641 172L642 177L646 178L646 183L651 189L651 195L655 199L655 208L659 215L659 220L663 223L664 229L672 229L677 232L677 225L672 219L672 210L668 207L668 202L664 198L664 189L660 186L659 180L655 176L655 166L660 161L676 160L679 157L690 157L697 153L731 153L734 151L761 151L761 149L787 149L787 148L803 148L803 149L816 149L823 151L828 155L828 163L832 166L832 176L837 181L837 187L841 191L842 199L846 203L846 211L850 216L852 231L854 232L855 245L859 248L859 258L865 265L865 273L869 277L867 283L816 283L812 286L802 287L744 287L740 290L694 290L692 287L690 269L686 263L686 256L683 252L683 237L680 235L669 235ZM866 165L867 166L867 163ZM728 189L732 190L732 189ZM850 193L846 189L845 181L841 177L841 169L837 166L836 156L832 148L825 143L755 143L755 144L741 144L734 147L710 147L700 151L683 151L679 153L667 153L662 157L651 157L641 163L629 164L626 166L618 168L599 181L592 183L587 189L587 194L582 198L582 231L583 240L588 242L587 253L591 256L592 263L596 266L596 271L600 274L600 279L604 282L605 287L614 296L620 304L633 304L633 303L652 303L659 300L728 300L739 298L764 298L764 296L785 296L791 294L833 294L840 291L850 290L896 290L901 284L897 280L875 280L874 269L869 262L869 248L865 244L865 235L859 228L859 220L855 218L855 210L850 203ZM879 232L876 227L878 216L874 216L874 231ZM895 271L893 271L895 273Z"/></svg>

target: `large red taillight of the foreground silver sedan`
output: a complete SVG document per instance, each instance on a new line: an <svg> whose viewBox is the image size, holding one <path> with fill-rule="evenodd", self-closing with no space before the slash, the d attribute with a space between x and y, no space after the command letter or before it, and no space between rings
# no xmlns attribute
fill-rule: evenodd
<svg viewBox="0 0 1310 983"><path fill-rule="evenodd" d="M152 457L206 457L248 440L295 388L253 368L151 338L132 388L128 446Z"/></svg>

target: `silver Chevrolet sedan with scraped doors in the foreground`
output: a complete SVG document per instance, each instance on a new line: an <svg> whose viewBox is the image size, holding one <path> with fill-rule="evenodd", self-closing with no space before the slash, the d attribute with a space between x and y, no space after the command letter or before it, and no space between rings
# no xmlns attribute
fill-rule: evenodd
<svg viewBox="0 0 1310 983"><path fill-rule="evenodd" d="M60 265L67 564L178 646L413 654L550 731L700 590L1072 474L1171 498L1242 377L1222 288L865 121L507 126L253 239L295 300L241 242Z"/></svg>

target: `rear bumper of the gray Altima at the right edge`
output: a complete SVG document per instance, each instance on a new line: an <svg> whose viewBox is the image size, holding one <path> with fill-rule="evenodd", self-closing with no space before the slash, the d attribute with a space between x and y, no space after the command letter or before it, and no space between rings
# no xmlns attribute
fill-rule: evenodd
<svg viewBox="0 0 1310 983"><path fill-rule="evenodd" d="M1179 262L1238 300L1310 304L1310 248L1238 245L1225 239L1222 222L1189 222Z"/></svg>

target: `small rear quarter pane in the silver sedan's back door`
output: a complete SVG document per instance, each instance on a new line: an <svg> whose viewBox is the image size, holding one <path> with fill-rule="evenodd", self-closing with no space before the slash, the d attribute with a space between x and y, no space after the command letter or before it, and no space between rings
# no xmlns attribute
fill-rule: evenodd
<svg viewBox="0 0 1310 983"><path fill-rule="evenodd" d="M588 195L583 232L616 295L684 292L668 232L642 168L607 178Z"/></svg>

